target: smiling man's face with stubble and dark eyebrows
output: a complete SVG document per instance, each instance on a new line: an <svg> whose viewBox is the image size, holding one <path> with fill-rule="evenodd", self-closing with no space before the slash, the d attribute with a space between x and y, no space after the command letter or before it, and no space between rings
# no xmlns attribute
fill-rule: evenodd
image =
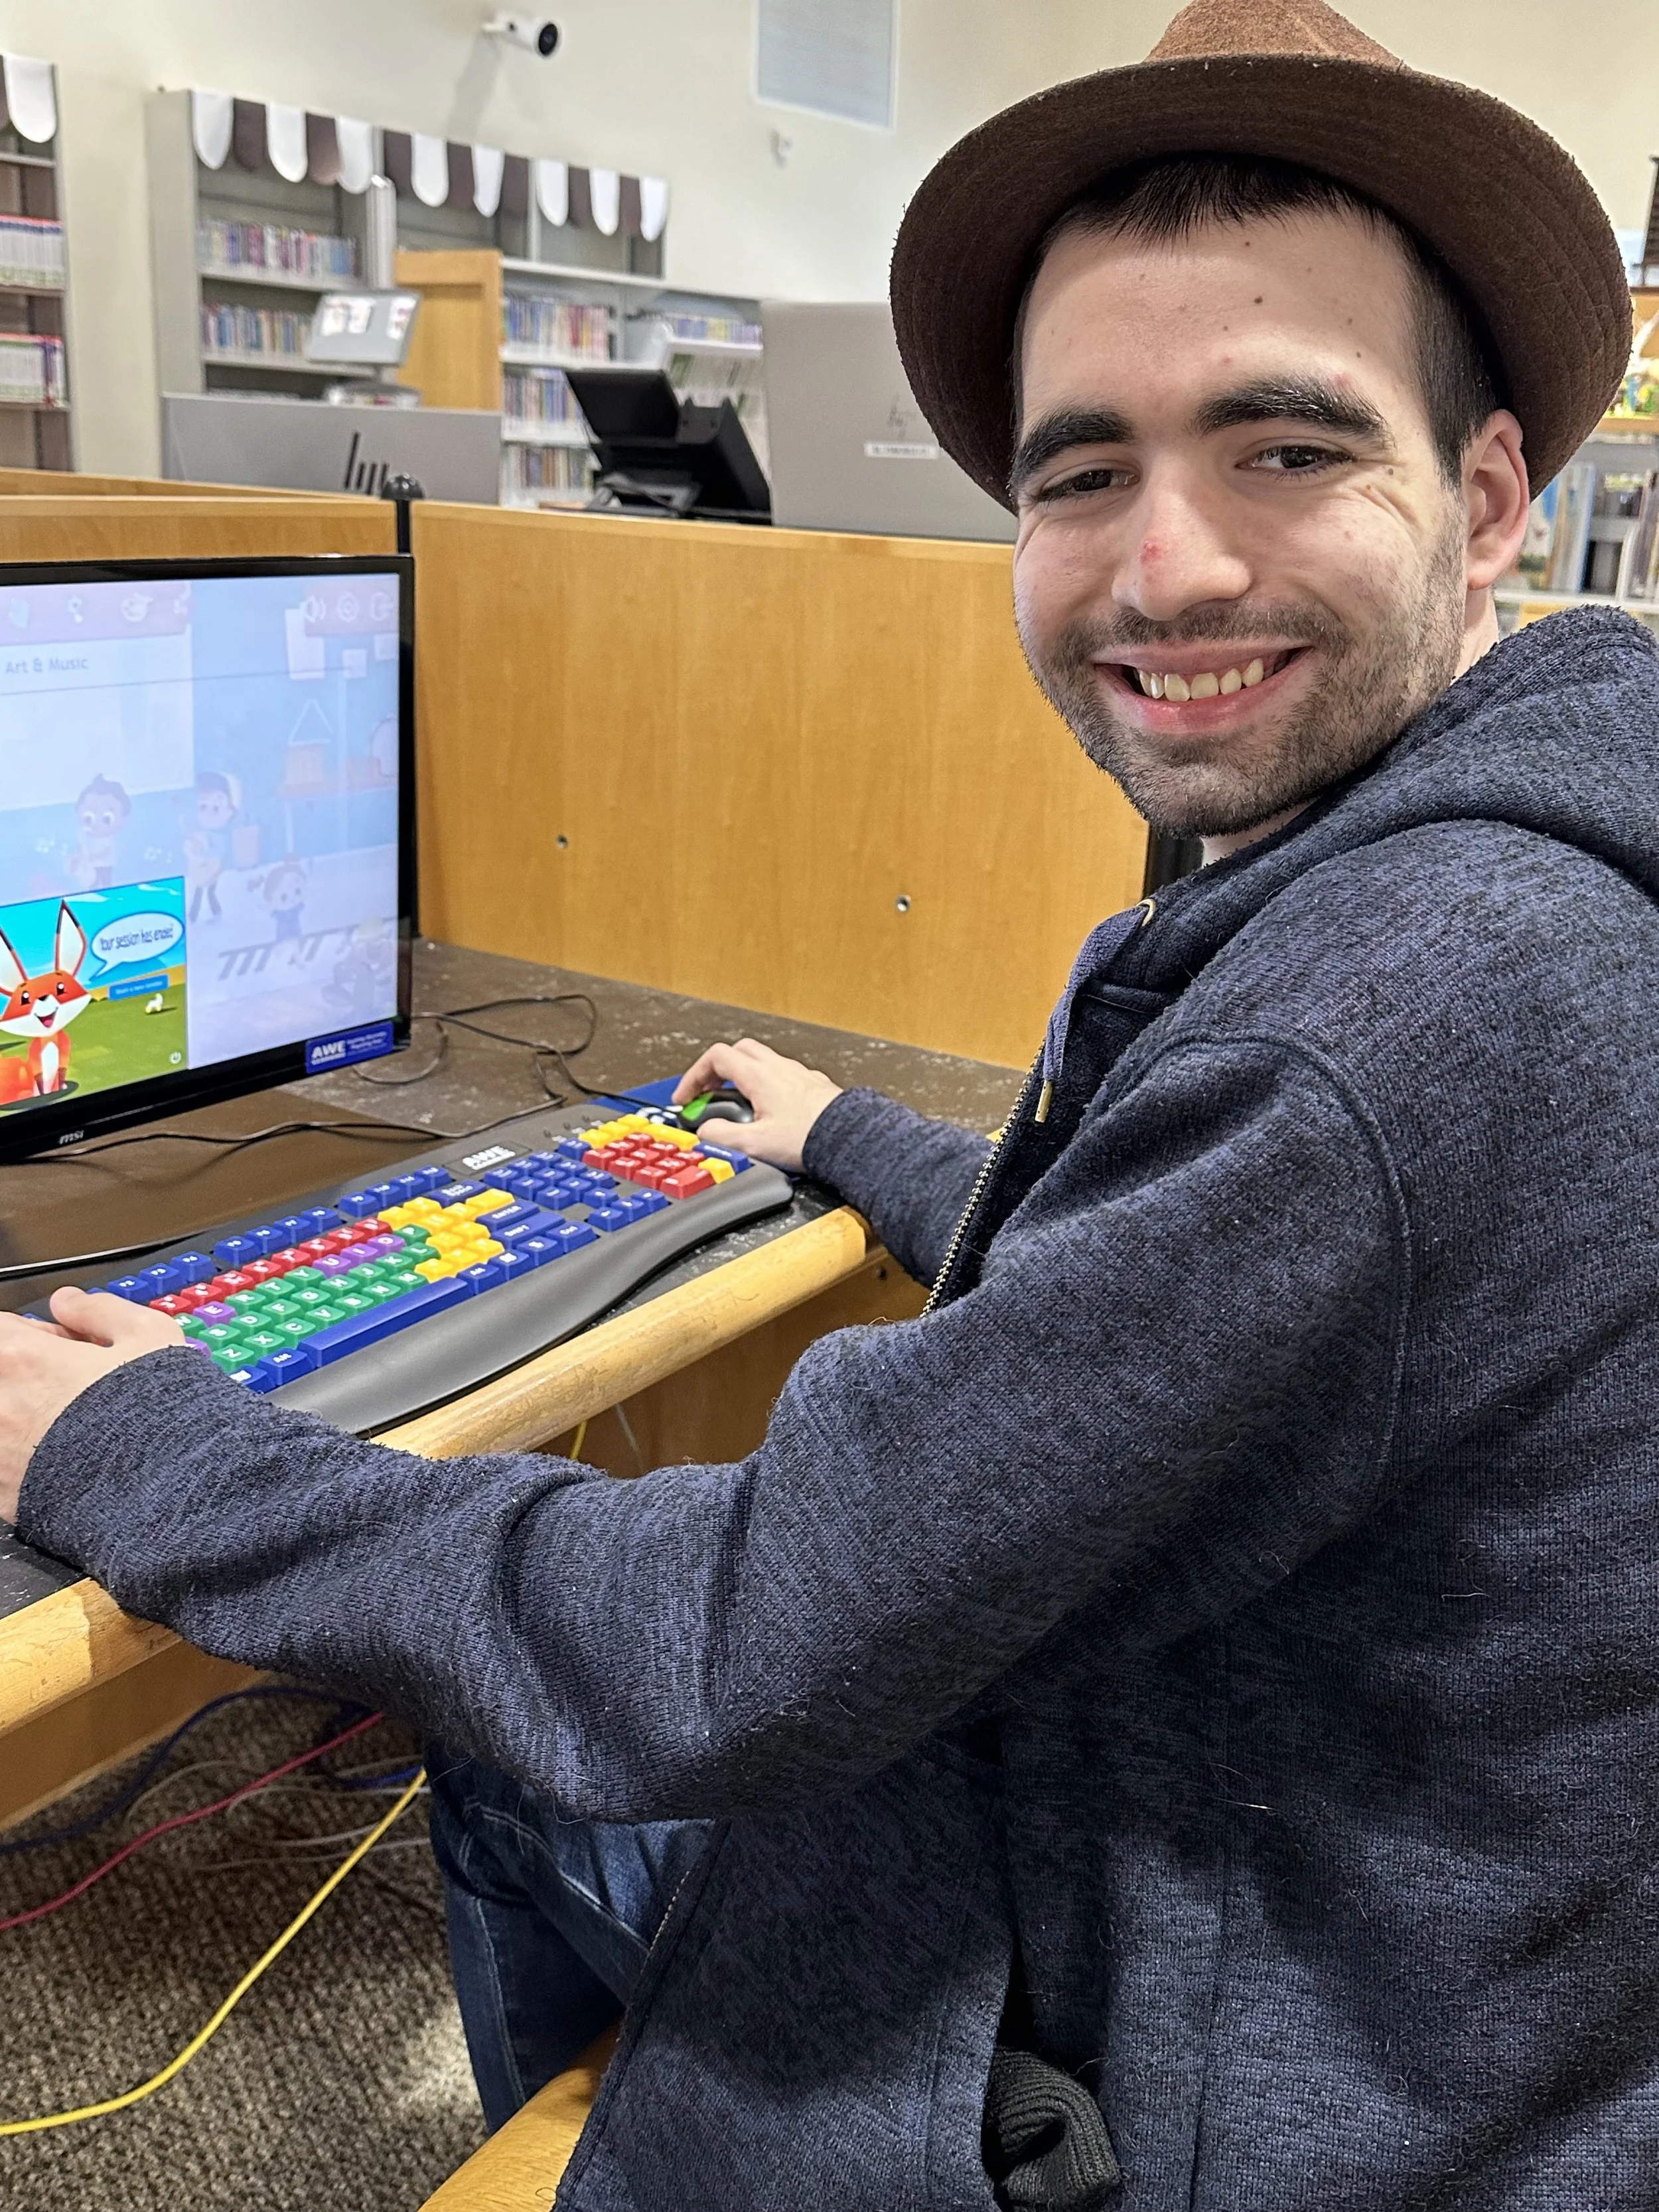
<svg viewBox="0 0 1659 2212"><path fill-rule="evenodd" d="M1356 217L1064 234L1026 310L1015 493L1026 659L1159 830L1294 812L1473 657L1407 263Z"/></svg>

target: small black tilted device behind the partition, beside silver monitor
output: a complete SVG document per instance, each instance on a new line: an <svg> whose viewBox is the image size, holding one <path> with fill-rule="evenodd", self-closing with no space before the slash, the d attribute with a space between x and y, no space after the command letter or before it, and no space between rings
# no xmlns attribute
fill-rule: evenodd
<svg viewBox="0 0 1659 2212"><path fill-rule="evenodd" d="M730 400L681 400L661 369L566 369L593 431L597 487L633 513L770 522L772 493Z"/></svg>

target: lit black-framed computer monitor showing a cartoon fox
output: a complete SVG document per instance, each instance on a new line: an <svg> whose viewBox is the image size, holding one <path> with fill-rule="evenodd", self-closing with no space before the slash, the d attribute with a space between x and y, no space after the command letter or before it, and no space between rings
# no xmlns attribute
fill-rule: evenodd
<svg viewBox="0 0 1659 2212"><path fill-rule="evenodd" d="M411 575L0 566L0 1159L407 1042Z"/></svg>

